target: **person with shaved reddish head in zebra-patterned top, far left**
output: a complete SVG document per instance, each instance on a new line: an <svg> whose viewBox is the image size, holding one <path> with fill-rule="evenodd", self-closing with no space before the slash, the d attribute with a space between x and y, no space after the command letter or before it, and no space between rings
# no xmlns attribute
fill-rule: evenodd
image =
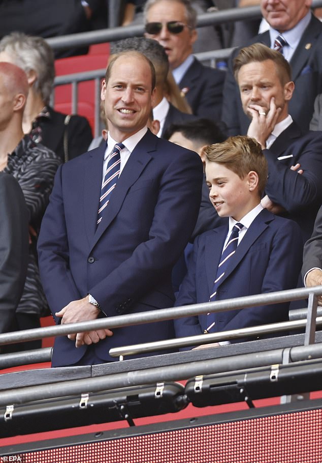
<svg viewBox="0 0 322 463"><path fill-rule="evenodd" d="M28 94L28 82L22 69L11 63L0 63L0 170L18 181L26 201L30 245L27 277L11 330L36 328L39 316L47 307L36 257L35 240L48 204L60 158L48 148L36 144L22 131L22 114ZM14 198L13 198L14 207ZM3 352L35 349L41 341L31 341Z"/></svg>

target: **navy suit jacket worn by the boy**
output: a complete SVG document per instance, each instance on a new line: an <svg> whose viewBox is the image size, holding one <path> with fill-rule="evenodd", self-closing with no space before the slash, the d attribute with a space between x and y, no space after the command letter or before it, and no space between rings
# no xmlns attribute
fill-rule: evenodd
<svg viewBox="0 0 322 463"><path fill-rule="evenodd" d="M183 280L176 306L208 302L220 262L228 226L221 226L196 238L194 254ZM292 220L264 209L251 223L230 258L230 266L217 288L217 299L270 293L296 287L302 265L302 237ZM282 322L288 319L289 303L263 305L218 312L215 332ZM202 334L207 314L175 321L177 337Z"/></svg>

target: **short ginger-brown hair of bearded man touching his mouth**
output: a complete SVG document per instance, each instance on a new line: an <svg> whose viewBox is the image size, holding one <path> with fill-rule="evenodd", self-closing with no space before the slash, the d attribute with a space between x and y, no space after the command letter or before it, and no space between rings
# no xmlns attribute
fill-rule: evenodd
<svg viewBox="0 0 322 463"><path fill-rule="evenodd" d="M262 63L271 60L275 64L277 75L282 85L292 80L291 66L282 53L272 50L263 43L254 43L242 48L234 59L234 76L238 82L240 68L249 63Z"/></svg>

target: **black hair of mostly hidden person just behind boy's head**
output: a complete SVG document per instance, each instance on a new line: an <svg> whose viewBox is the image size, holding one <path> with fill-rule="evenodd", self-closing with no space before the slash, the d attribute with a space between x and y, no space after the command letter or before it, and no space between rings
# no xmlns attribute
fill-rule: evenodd
<svg viewBox="0 0 322 463"><path fill-rule="evenodd" d="M184 138L192 141L196 147L202 147L205 144L220 143L226 139L218 124L204 118L181 124L171 124L166 130L164 138L169 140L176 132L182 133Z"/></svg>

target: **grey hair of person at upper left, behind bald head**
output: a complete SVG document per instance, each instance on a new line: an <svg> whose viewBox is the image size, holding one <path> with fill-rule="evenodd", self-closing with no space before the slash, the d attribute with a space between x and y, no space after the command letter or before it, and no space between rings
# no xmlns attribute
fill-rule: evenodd
<svg viewBox="0 0 322 463"><path fill-rule="evenodd" d="M35 92L48 104L55 78L55 67L54 53L46 40L13 32L1 39L1 51L5 51L14 64L27 75L30 71L36 72L37 79L33 85Z"/></svg>

